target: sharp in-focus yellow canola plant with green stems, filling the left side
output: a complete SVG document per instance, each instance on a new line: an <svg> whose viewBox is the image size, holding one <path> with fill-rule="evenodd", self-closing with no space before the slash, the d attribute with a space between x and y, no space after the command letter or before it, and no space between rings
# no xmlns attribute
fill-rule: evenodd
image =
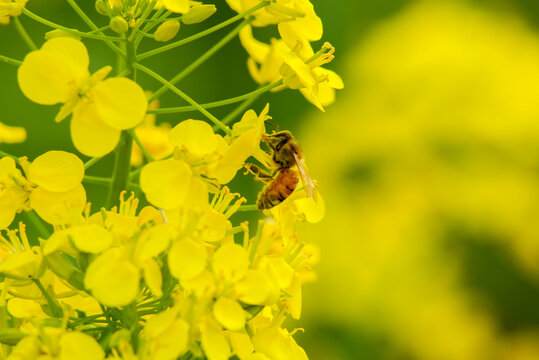
<svg viewBox="0 0 539 360"><path fill-rule="evenodd" d="M323 110L343 87L321 67L335 49L310 45L323 35L312 4L230 0L238 15L209 27L218 9L199 1L97 0L92 13L67 3L90 30L47 20L32 1L0 0L0 24L15 23L28 47L21 60L0 54L2 66L16 67L27 100L56 108L55 117L35 121L52 132L69 118L76 149L47 143L50 150L37 155L0 150L0 359L308 359L287 319L300 319L302 285L315 278L317 249L300 228L320 221L325 205L298 145L268 140L270 104L249 105L289 88ZM36 43L18 17L50 31ZM234 22L171 79L143 64ZM252 27L260 26L279 38L258 42ZM186 37L185 27L198 32ZM249 55L243 71L262 88L200 104L177 87L235 37ZM100 62L89 51L94 41L117 61L90 71ZM150 50L139 51L142 43ZM142 87L137 74L160 87ZM182 102L162 108L166 91ZM226 117L212 114L238 102ZM197 115L182 116L186 110ZM178 115L171 124L158 121L160 113ZM0 123L0 144L26 135ZM286 167L277 161L283 156ZM114 158L109 176L93 175L106 157ZM260 170L253 177L246 168ZM282 171L306 182L286 188L277 183ZM260 210L232 192L229 183L239 176L263 182L264 194L274 189L272 207ZM96 186L107 196L91 204Z"/></svg>

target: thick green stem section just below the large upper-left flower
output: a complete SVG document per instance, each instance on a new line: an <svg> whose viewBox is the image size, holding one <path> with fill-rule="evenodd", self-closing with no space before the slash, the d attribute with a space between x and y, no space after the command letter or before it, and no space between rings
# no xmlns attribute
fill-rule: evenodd
<svg viewBox="0 0 539 360"><path fill-rule="evenodd" d="M120 193L127 187L129 170L131 168L131 148L133 139L128 131L122 131L120 142L116 147L116 157L114 159L114 171L112 182L109 188L108 208L111 208L120 198Z"/></svg>

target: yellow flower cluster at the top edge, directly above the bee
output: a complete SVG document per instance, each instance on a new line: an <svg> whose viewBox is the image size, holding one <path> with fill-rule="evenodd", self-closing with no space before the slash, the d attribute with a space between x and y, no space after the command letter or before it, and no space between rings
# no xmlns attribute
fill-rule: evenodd
<svg viewBox="0 0 539 360"><path fill-rule="evenodd" d="M227 0L237 12L242 12L258 1ZM300 89L307 100L320 110L335 100L335 89L344 87L335 72L321 66L331 62L335 49L324 43L314 52L310 42L322 38L322 21L309 0L277 0L252 14L253 21L240 32L240 40L249 53L247 65L253 79L259 84L282 80L282 87ZM277 25L280 39L270 44L253 36L253 27ZM276 88L279 89L279 88Z"/></svg>

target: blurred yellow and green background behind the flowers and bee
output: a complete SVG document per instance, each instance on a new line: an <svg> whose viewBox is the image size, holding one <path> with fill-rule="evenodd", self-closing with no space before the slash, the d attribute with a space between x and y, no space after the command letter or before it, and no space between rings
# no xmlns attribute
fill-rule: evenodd
<svg viewBox="0 0 539 360"><path fill-rule="evenodd" d="M79 3L95 14L93 1ZM214 3L213 18L179 36L233 15ZM269 101L274 121L297 134L327 203L326 219L303 229L320 261L302 319L290 323L306 329L296 338L313 360L539 359L539 2L312 3L345 89L324 114L290 90L253 106ZM28 7L86 29L61 0ZM48 29L21 21L40 44ZM145 64L172 77L225 33ZM115 63L108 48L85 43L92 71ZM25 52L14 27L1 27L0 53ZM245 62L236 40L179 87L200 102L250 91ZM0 149L30 158L74 150L68 122L53 124L56 108L24 98L12 66L0 64L0 81L0 121L28 129L26 143ZM162 97L162 107L180 104ZM201 118L158 121L190 117ZM233 187L254 201L250 179ZM104 190L89 191L98 208Z"/></svg>

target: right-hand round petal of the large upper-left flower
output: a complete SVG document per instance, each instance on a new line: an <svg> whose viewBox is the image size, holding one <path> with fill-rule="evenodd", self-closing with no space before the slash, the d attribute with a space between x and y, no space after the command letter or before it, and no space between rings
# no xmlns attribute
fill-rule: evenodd
<svg viewBox="0 0 539 360"><path fill-rule="evenodd" d="M97 83L90 93L101 120L112 128L130 129L144 119L148 107L146 95L131 79L106 79Z"/></svg>

